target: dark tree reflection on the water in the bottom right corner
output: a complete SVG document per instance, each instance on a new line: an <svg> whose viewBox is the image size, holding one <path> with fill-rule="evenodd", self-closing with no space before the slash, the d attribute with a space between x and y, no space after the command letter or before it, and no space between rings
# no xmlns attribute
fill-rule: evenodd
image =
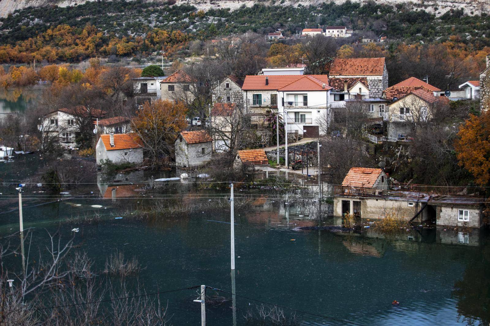
<svg viewBox="0 0 490 326"><path fill-rule="evenodd" d="M458 313L465 319L477 319L481 325L490 324L490 239L466 266L463 279L454 283L453 294L458 299ZM468 320L468 325L475 324Z"/></svg>

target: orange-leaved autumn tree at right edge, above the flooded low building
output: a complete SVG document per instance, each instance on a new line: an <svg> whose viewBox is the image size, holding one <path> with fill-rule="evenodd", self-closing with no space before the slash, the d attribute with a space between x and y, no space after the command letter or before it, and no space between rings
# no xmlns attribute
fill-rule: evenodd
<svg viewBox="0 0 490 326"><path fill-rule="evenodd" d="M470 116L460 127L454 148L459 165L464 166L475 178L475 183L490 183L490 113Z"/></svg>

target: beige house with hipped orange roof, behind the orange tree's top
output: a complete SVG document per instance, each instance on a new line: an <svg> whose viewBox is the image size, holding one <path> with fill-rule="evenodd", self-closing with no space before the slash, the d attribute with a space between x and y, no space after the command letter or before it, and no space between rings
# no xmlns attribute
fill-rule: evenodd
<svg viewBox="0 0 490 326"><path fill-rule="evenodd" d="M192 102L197 92L197 80L182 70L177 70L160 82L160 96L163 100L185 99Z"/></svg>

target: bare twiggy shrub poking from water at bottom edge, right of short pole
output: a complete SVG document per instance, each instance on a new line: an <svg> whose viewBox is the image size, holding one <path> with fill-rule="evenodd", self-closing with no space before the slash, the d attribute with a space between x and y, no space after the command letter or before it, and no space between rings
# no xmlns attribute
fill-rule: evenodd
<svg viewBox="0 0 490 326"><path fill-rule="evenodd" d="M275 305L256 305L255 309L248 309L244 317L247 325L297 326L301 324L296 314L288 317L284 309Z"/></svg>

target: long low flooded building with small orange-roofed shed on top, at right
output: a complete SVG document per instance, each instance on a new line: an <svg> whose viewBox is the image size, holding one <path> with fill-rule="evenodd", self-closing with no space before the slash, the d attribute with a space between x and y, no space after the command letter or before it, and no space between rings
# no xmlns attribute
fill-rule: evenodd
<svg viewBox="0 0 490 326"><path fill-rule="evenodd" d="M373 171L368 173L368 170ZM334 215L353 213L366 219L391 215L419 223L433 221L440 226L483 226L482 198L437 194L439 188L430 186L398 185L392 188L383 179L386 181L386 175L381 169L352 168L342 186L335 188Z"/></svg>

